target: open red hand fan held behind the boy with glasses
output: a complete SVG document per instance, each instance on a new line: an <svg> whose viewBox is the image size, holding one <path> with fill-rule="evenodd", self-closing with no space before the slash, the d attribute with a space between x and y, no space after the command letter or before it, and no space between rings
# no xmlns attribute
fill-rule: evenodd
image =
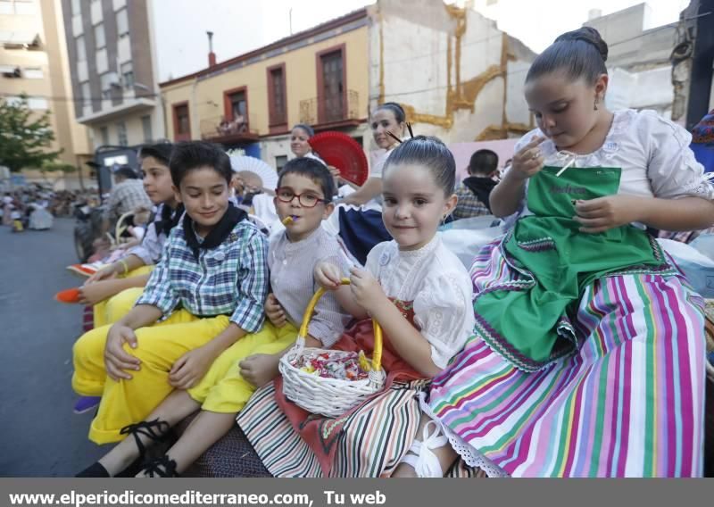
<svg viewBox="0 0 714 507"><path fill-rule="evenodd" d="M322 132L308 141L312 150L328 165L340 170L340 176L355 185L369 177L367 157L361 145L342 132Z"/></svg>

